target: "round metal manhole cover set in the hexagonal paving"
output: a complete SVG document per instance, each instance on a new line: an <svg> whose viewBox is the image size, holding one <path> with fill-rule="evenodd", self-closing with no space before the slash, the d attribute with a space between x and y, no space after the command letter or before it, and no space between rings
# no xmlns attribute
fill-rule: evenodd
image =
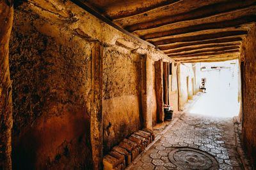
<svg viewBox="0 0 256 170"><path fill-rule="evenodd" d="M182 169L218 169L217 160L202 150L177 148L169 153L170 161Z"/></svg>

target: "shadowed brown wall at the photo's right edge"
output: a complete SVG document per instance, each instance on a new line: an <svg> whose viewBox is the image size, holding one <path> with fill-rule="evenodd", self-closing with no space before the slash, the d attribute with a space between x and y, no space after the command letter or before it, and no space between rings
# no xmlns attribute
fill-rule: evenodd
<svg viewBox="0 0 256 170"><path fill-rule="evenodd" d="M243 144L256 168L256 25L243 41Z"/></svg>

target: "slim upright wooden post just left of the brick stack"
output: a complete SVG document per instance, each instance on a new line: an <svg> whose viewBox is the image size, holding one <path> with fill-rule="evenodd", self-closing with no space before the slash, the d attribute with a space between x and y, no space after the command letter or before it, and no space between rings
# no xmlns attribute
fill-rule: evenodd
<svg viewBox="0 0 256 170"><path fill-rule="evenodd" d="M95 41L92 48L92 94L90 122L93 169L102 169L102 57L102 45L98 41Z"/></svg>

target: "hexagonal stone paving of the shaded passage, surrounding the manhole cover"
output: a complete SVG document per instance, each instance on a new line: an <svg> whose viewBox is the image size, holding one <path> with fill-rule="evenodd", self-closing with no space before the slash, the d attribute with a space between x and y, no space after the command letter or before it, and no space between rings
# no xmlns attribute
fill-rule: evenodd
<svg viewBox="0 0 256 170"><path fill-rule="evenodd" d="M196 148L209 153L218 161L219 168L214 169L243 169L237 153L232 118L191 114L182 115L129 169L186 169L175 166L168 158L169 153L179 147Z"/></svg>

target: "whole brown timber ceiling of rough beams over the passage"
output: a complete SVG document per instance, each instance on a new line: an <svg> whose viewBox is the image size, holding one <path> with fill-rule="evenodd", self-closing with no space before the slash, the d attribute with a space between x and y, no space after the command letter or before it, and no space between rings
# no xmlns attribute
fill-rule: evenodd
<svg viewBox="0 0 256 170"><path fill-rule="evenodd" d="M256 0L79 0L177 62L237 59Z"/></svg>

